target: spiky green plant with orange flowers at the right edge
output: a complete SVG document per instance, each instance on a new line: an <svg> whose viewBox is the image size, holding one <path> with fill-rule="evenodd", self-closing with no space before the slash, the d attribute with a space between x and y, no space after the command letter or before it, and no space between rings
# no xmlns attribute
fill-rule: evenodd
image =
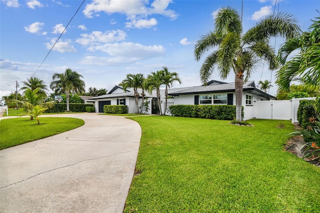
<svg viewBox="0 0 320 213"><path fill-rule="evenodd" d="M304 145L301 147L303 157L312 161L318 161L320 163L320 121L319 117L312 117L309 119L312 126L307 126L306 129L298 129L288 135L296 136L302 135L304 140Z"/></svg>

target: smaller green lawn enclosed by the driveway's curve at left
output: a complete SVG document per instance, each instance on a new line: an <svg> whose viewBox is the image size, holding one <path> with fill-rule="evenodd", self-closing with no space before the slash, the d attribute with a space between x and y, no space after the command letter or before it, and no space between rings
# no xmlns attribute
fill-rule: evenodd
<svg viewBox="0 0 320 213"><path fill-rule="evenodd" d="M29 117L2 119L0 149L68 131L83 124L83 120L69 117L40 117L40 125L36 119L29 120Z"/></svg>

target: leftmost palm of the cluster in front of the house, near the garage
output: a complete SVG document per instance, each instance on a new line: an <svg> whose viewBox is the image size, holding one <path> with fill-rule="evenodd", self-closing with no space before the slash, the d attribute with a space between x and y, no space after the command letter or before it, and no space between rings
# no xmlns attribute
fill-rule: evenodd
<svg viewBox="0 0 320 213"><path fill-rule="evenodd" d="M119 85L122 86L124 91L126 91L126 89L129 87L133 88L137 113L139 113L139 105L138 105L139 93L137 88L140 88L142 86L142 81L143 81L143 74L137 73L137 74L127 74L126 78L122 80L121 83L119 83Z"/></svg>

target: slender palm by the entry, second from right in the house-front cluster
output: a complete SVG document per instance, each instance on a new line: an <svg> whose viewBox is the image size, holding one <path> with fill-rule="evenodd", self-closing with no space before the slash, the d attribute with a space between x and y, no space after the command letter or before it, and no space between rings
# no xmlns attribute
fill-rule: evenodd
<svg viewBox="0 0 320 213"><path fill-rule="evenodd" d="M156 72L151 72L151 74L148 74L144 81L144 85L147 86L147 90L150 94L152 93L152 90L156 90L156 98L160 115L162 115L160 86L163 84L163 76L163 70L158 70Z"/></svg>

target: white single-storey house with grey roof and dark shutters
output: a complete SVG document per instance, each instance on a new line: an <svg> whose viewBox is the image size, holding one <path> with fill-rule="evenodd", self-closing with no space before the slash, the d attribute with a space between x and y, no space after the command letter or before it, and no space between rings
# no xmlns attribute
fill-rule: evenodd
<svg viewBox="0 0 320 213"><path fill-rule="evenodd" d="M141 89L138 90L141 93ZM156 94L145 93L145 101L149 101L148 111L143 113L156 114L158 111L155 109ZM161 93L161 107L164 111L164 89L160 90ZM235 105L235 89L234 83L226 83L217 80L211 80L207 85L203 86L190 86L183 88L170 88L168 89L168 104L166 114L170 115L168 109L169 105L176 104L226 104ZM135 113L136 106L134 101L133 89L127 88L126 91L120 86L114 86L107 94L89 98L94 100L96 112L103 112L103 105L120 105L128 106L128 113ZM242 105L244 106L244 119L253 118L253 101L257 100L274 100L274 96L256 88L254 81L247 81L243 84ZM142 97L139 97L139 104Z"/></svg>

